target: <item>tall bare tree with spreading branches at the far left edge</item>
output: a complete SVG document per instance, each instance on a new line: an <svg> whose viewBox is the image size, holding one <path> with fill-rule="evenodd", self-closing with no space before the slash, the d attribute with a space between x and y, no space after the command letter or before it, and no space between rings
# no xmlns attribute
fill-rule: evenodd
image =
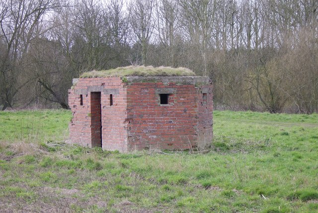
<svg viewBox="0 0 318 213"><path fill-rule="evenodd" d="M34 28L43 21L46 12L58 6L53 0L1 0L1 39L5 45L1 55L0 96L4 102L2 110L12 107L14 96L21 86L16 85L17 77L23 70L19 59L27 52Z"/></svg>

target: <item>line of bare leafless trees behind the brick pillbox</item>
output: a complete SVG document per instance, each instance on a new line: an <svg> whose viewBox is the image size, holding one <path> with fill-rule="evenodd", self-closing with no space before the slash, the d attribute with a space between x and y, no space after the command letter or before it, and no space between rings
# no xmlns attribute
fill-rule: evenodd
<svg viewBox="0 0 318 213"><path fill-rule="evenodd" d="M133 64L209 76L219 109L318 112L318 0L0 0L0 24L2 110Z"/></svg>

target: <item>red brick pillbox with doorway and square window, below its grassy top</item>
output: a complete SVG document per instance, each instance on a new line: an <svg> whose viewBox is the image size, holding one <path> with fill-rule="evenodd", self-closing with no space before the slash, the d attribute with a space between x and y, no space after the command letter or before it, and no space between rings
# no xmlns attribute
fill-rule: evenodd
<svg viewBox="0 0 318 213"><path fill-rule="evenodd" d="M97 75L73 83L72 143L121 152L203 150L212 143L213 87L208 77Z"/></svg>

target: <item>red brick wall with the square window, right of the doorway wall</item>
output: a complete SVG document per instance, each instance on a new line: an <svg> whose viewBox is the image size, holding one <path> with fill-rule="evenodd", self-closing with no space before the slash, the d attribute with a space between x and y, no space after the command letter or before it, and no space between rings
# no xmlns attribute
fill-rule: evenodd
<svg viewBox="0 0 318 213"><path fill-rule="evenodd" d="M210 86L206 86L209 88ZM160 105L160 88L174 89L168 105ZM164 90L163 90L163 93ZM168 93L168 92L167 92ZM127 89L129 150L144 148L192 149L212 141L212 131L206 140L198 140L199 132L212 130L212 107L199 113L202 94L195 85L169 83L134 83ZM199 105L200 103L200 105ZM208 105L212 104L212 94ZM208 112L211 110L211 112ZM204 117L206 116L206 117ZM203 129L205 128L205 129Z"/></svg>

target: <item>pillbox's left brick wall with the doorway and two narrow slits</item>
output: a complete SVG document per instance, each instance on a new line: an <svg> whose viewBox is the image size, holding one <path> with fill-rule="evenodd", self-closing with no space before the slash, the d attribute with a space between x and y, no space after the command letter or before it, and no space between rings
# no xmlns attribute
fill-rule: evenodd
<svg viewBox="0 0 318 213"><path fill-rule="evenodd" d="M126 88L120 78L79 79L69 90L73 119L69 125L72 142L93 147L100 145L100 111L102 148L127 151ZM101 101L94 92L100 92ZM80 106L82 94L83 106ZM113 105L109 105L112 94ZM100 104L99 104L100 103ZM101 109L100 109L101 106Z"/></svg>

